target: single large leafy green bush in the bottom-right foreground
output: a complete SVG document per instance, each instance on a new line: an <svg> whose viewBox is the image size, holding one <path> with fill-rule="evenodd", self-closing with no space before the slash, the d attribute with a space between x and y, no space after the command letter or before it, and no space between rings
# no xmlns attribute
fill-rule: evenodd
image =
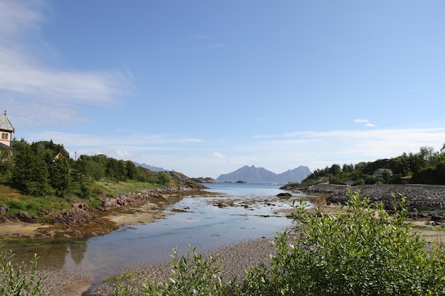
<svg viewBox="0 0 445 296"><path fill-rule="evenodd" d="M250 295L444 295L444 249L425 250L425 241L404 224L405 204L389 216L350 192L348 210L335 215L305 204L294 212L296 234L274 242L278 254L262 285L244 285ZM254 279L258 278L258 275ZM249 278L247 278L249 280ZM247 281L247 283L250 283ZM250 288L254 287L254 291Z"/></svg>

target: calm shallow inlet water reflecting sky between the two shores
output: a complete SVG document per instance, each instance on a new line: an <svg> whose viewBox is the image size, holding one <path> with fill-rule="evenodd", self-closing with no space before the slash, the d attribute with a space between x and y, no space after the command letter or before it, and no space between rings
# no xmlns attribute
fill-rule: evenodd
<svg viewBox="0 0 445 296"><path fill-rule="evenodd" d="M34 253L40 268L80 268L93 283L115 275L130 265L170 260L171 250L198 251L218 248L245 239L274 233L289 226L279 209L289 200L277 194L280 185L217 183L206 185L211 196L186 196L166 208L171 215L156 222L123 227L104 236L79 241L14 248L16 258L28 261ZM295 198L299 195L295 194ZM230 202L230 206L223 204ZM177 212L180 211L180 212Z"/></svg>

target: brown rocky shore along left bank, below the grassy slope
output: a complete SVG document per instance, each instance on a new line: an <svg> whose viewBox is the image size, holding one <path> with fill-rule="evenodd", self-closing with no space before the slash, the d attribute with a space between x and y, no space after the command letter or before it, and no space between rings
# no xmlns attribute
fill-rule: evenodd
<svg viewBox="0 0 445 296"><path fill-rule="evenodd" d="M21 211L11 216L1 216L0 226L28 224L33 226L33 231L22 233L20 228L11 234L1 233L0 238L28 238L52 239L58 237L92 237L107 234L116 230L120 225L109 219L114 213L119 213L127 208L139 207L149 203L153 214L159 212L166 202L174 197L186 194L203 194L203 188L196 187L169 187L152 190L143 190L137 193L119 194L116 197L107 197L100 207L89 209L85 202L71 204L69 211L52 214L45 213L50 217L45 224L36 223L38 217L30 216ZM156 212L156 213L155 213ZM5 227L6 228L6 227Z"/></svg>

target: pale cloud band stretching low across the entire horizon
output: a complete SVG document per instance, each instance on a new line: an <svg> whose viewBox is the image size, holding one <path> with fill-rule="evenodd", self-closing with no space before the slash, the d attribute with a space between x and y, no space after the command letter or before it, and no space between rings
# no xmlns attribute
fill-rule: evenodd
<svg viewBox="0 0 445 296"><path fill-rule="evenodd" d="M43 131L25 138L31 142L53 139L55 143L63 143L72 157L75 153L77 156L103 153L191 176L218 177L218 172L230 172L242 165L262 166L272 172L284 172L299 165L314 170L333 163L392 158L404 152L417 152L422 146L440 149L445 128L295 131L236 142L215 139L213 143L193 137L139 133L122 133L116 138L113 134Z"/></svg>

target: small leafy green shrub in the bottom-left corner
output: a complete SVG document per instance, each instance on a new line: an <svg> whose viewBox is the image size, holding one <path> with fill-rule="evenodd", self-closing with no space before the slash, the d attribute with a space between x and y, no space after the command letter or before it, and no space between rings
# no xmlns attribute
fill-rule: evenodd
<svg viewBox="0 0 445 296"><path fill-rule="evenodd" d="M0 296L40 296L43 278L36 272L37 257L31 261L29 270L21 262L14 265L11 252L0 252Z"/></svg>

